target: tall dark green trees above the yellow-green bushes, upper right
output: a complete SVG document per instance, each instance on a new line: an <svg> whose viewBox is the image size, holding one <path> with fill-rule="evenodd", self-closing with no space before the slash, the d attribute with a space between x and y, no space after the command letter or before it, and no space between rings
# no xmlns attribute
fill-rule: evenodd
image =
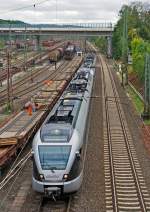
<svg viewBox="0 0 150 212"><path fill-rule="evenodd" d="M123 14L125 8L128 8L128 48L131 50L131 43L136 36L150 43L150 4L132 2L130 6L123 5L113 33L113 55L116 59L121 58Z"/></svg>

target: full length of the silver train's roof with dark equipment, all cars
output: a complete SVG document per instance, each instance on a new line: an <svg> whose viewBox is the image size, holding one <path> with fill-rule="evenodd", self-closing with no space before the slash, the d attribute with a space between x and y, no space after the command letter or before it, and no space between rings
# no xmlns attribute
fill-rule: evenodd
<svg viewBox="0 0 150 212"><path fill-rule="evenodd" d="M78 113L87 90L89 75L87 68L78 70L63 93L59 104L41 127L42 143L68 143L78 119Z"/></svg>

